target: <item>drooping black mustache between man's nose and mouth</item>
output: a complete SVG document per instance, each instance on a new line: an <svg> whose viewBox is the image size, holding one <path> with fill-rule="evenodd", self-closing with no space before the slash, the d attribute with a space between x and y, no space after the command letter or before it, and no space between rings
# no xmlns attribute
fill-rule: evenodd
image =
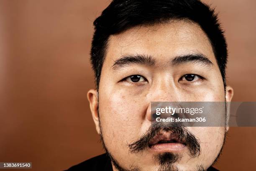
<svg viewBox="0 0 256 171"><path fill-rule="evenodd" d="M129 151L131 153L139 153L150 145L150 140L154 138L155 135L161 132L170 132L178 136L178 140L182 140L189 148L191 157L197 157L201 153L200 142L197 140L194 134L189 132L184 125L181 123L153 123L148 131L141 136L138 140L128 144Z"/></svg>

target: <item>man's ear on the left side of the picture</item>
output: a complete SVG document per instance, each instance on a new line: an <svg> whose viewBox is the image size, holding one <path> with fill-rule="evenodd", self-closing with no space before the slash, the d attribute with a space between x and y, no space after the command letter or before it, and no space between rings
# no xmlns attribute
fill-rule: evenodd
<svg viewBox="0 0 256 171"><path fill-rule="evenodd" d="M97 133L100 134L100 125L99 125L99 114L98 114L98 92L96 89L90 89L87 92L87 99L90 103L90 110L92 113L92 119L95 123Z"/></svg>

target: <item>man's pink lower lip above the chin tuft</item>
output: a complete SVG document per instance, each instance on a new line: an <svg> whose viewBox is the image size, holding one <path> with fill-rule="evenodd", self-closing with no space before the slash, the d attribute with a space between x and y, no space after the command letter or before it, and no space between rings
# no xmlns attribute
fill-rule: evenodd
<svg viewBox="0 0 256 171"><path fill-rule="evenodd" d="M181 151L184 149L186 145L182 143L160 143L160 144L155 144L150 147L151 150L153 151L158 151L158 152L167 152L167 151Z"/></svg>

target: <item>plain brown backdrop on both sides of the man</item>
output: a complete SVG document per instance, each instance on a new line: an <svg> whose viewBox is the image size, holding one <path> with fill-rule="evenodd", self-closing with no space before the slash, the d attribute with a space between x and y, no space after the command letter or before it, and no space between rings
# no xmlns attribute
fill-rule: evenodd
<svg viewBox="0 0 256 171"><path fill-rule="evenodd" d="M109 0L0 0L0 162L58 171L103 153L86 98L92 22ZM234 101L256 101L256 1L206 0L229 49ZM256 128L231 128L221 171L255 170Z"/></svg>

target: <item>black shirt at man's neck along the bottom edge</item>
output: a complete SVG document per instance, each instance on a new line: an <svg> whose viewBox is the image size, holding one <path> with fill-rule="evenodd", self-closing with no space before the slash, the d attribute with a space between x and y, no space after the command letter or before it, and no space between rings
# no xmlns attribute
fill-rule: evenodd
<svg viewBox="0 0 256 171"><path fill-rule="evenodd" d="M72 166L67 171L113 171L109 156L105 153ZM210 167L207 171L218 171Z"/></svg>

